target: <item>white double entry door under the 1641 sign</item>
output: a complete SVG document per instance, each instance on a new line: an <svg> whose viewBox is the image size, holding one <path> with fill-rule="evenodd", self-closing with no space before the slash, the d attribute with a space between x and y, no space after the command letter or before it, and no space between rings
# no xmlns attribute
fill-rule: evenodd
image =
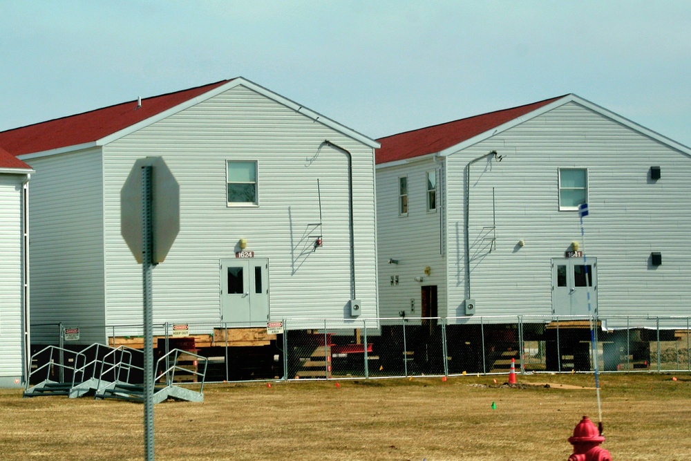
<svg viewBox="0 0 691 461"><path fill-rule="evenodd" d="M587 274L587 276L586 276ZM588 310L588 293L590 310ZM595 315L598 311L597 258L552 259L552 313Z"/></svg>

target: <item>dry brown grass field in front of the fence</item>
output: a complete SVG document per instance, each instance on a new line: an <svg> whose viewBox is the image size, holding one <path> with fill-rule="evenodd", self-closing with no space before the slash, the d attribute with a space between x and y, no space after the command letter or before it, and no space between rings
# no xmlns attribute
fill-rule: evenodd
<svg viewBox="0 0 691 461"><path fill-rule="evenodd" d="M600 378L603 447L615 461L691 460L690 375ZM597 422L595 391L578 388L593 386L591 375L519 375L518 388L505 380L208 385L203 403L155 406L155 458L566 460L580 418ZM0 390L0 459L141 460L143 408Z"/></svg>

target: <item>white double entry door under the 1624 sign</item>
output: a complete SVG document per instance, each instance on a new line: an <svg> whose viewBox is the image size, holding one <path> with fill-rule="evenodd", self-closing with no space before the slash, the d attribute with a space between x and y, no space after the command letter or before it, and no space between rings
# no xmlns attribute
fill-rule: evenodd
<svg viewBox="0 0 691 461"><path fill-rule="evenodd" d="M220 268L222 320L265 323L269 319L269 260L223 259Z"/></svg>

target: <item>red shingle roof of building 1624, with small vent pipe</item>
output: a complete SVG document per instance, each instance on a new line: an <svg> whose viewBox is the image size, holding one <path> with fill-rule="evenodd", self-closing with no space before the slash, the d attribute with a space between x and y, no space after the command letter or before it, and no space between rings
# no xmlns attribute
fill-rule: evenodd
<svg viewBox="0 0 691 461"><path fill-rule="evenodd" d="M0 133L0 146L13 156L21 156L25 153L95 142L227 82L229 80L222 80L176 93L147 97L142 99L140 108L137 108L137 101L123 102L95 111L3 131Z"/></svg>

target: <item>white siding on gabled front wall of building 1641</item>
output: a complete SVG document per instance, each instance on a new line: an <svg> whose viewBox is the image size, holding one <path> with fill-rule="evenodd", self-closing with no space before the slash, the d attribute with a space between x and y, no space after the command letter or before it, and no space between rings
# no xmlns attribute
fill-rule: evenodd
<svg viewBox="0 0 691 461"><path fill-rule="evenodd" d="M558 211L560 168L588 171L590 214L581 250L597 258L600 315L688 314L691 214L684 210L691 203L691 159L575 102L447 158L451 306L462 312L468 297L464 168L492 150L505 155L501 163L488 158L471 167L476 315L551 314L550 260L580 241L578 214ZM649 179L651 165L661 165L661 180ZM494 225L492 249L487 229ZM656 270L649 266L652 251L663 254Z"/></svg>

